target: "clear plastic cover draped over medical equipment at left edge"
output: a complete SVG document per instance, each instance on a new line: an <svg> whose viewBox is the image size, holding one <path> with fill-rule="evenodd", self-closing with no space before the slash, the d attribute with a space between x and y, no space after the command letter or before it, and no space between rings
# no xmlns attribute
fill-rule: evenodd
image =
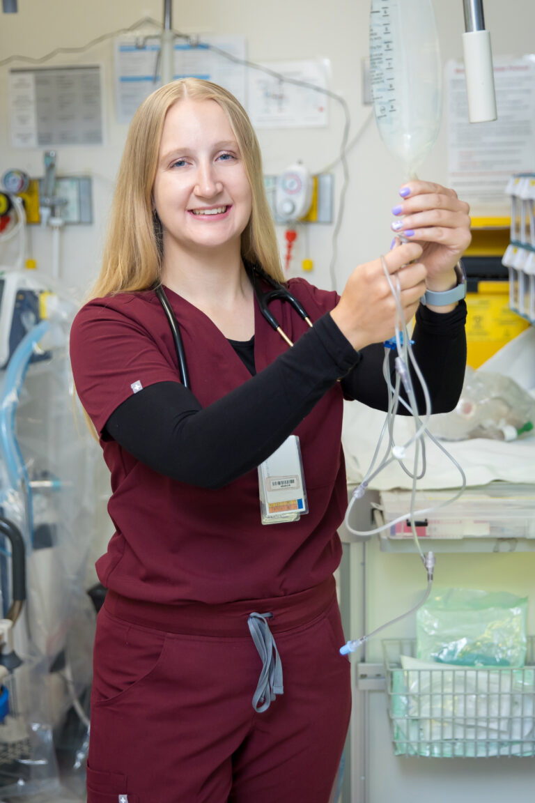
<svg viewBox="0 0 535 803"><path fill-rule="evenodd" d="M0 516L26 548L26 601L13 627L21 663L2 680L10 712L0 722L0 797L53 793L63 801L61 768L73 783L79 778L80 797L72 799L82 800L95 628L86 577L99 453L81 412L79 427L75 421L68 335L78 304L41 280L44 292L35 292L43 320L32 341L39 359L31 350L20 356L25 336L0 371ZM33 282L38 287L39 274ZM33 331L30 325L28 336ZM11 553L2 542L3 616Z"/></svg>

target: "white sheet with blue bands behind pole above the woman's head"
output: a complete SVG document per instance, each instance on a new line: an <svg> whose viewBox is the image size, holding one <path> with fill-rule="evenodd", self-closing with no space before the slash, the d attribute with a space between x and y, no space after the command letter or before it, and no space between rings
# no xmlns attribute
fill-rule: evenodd
<svg viewBox="0 0 535 803"><path fill-rule="evenodd" d="M245 39L202 36L198 43L176 39L174 78L196 77L219 84L245 105ZM120 36L116 39L117 119L129 123L136 108L160 86L160 39Z"/></svg>

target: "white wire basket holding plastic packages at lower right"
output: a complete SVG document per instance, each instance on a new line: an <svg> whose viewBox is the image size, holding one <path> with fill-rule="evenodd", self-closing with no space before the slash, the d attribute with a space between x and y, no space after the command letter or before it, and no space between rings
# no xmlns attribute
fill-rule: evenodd
<svg viewBox="0 0 535 803"><path fill-rule="evenodd" d="M395 755L534 756L535 637L527 646L522 669L414 669L415 639L383 641Z"/></svg>

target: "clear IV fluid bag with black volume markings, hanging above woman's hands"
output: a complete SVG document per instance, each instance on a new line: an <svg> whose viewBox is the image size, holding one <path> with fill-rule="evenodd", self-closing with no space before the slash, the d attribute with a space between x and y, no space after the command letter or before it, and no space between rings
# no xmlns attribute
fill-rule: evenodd
<svg viewBox="0 0 535 803"><path fill-rule="evenodd" d="M442 78L432 0L372 0L370 77L379 133L412 177L440 128Z"/></svg>

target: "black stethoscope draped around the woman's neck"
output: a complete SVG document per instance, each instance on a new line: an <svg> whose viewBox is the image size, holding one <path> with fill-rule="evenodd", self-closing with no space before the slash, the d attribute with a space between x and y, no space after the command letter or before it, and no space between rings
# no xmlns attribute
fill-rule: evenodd
<svg viewBox="0 0 535 803"><path fill-rule="evenodd" d="M282 337L282 340L289 346L293 346L294 344L290 340L290 337L286 335L286 332L283 332L281 325L278 323L277 318L274 316L273 312L270 312L268 308L268 304L275 299L279 299L281 301L287 301L289 304L292 305L295 312L298 313L298 316L305 320L309 326L312 326L312 321L310 320L309 316L307 315L305 309L302 307L302 304L292 296L289 290L286 289L282 284L278 283L275 279L273 279L268 273L263 271L261 267L257 265L252 265L248 262L245 262L245 271L247 271L247 275L253 285L254 295L257 300L258 307L260 308L261 314L265 317L268 324L272 328L274 328L275 332ZM261 276L262 279L265 279L266 282L270 283L272 290L263 291L260 287L260 283L258 282L258 278ZM171 304L169 304L168 297L165 295L164 288L160 284L155 289L156 296L160 301L160 304L164 308L165 315L167 316L167 320L172 332L172 339L175 344L175 351L176 351L176 359L178 360L178 370L180 373L180 381L184 388L190 388L191 385L189 384L189 375L188 375L188 365L186 364L186 356L184 354L184 344L182 343L182 338L180 337L180 329L178 327L178 321L176 320L176 315L172 311Z"/></svg>

